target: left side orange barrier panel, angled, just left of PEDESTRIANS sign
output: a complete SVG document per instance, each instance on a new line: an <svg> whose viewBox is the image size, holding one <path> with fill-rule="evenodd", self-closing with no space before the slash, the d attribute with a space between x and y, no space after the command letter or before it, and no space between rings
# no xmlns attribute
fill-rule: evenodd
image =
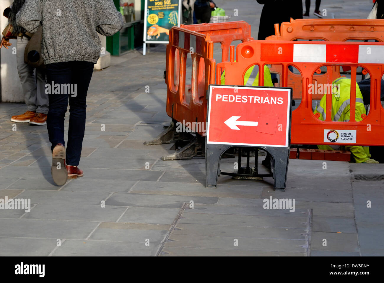
<svg viewBox="0 0 384 283"><path fill-rule="evenodd" d="M209 35L185 28L169 31L166 59L167 106L169 117L179 122L205 123L207 116L206 91L215 83L216 63L214 43ZM192 79L186 82L187 55L192 57ZM196 132L203 135L202 127Z"/></svg>

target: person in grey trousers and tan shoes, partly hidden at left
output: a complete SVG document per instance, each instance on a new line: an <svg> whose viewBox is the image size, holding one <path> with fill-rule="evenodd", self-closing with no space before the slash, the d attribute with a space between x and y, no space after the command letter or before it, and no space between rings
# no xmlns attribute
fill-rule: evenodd
<svg viewBox="0 0 384 283"><path fill-rule="evenodd" d="M12 122L23 122L34 125L45 125L48 114L48 94L45 93L45 71L24 63L24 50L32 34L26 32L16 21L16 14L22 8L25 0L14 0L12 5L5 9L4 15L8 23L13 26L13 33L17 35L16 60L17 70L22 84L24 100L27 110L24 114L11 117ZM8 49L11 46L9 39L3 37L0 48Z"/></svg>

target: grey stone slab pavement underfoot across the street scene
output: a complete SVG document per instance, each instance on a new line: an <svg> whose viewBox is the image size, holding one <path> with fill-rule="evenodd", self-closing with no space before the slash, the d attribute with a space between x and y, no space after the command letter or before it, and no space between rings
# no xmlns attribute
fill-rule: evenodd
<svg viewBox="0 0 384 283"><path fill-rule="evenodd" d="M257 38L262 5L217 3L227 13L237 8L231 20L248 21ZM371 6L368 0L321 4L336 18L366 18ZM215 58L220 52L215 48ZM112 66L94 71L84 177L62 187L50 175L46 127L17 123L13 131L9 119L25 105L0 103L0 198L31 200L29 212L0 209L0 255L384 255L384 181L355 178L382 175L381 164L327 161L323 169L321 161L290 160L285 192L273 191L272 178L223 175L216 189L207 189L204 159L163 161L174 152L171 144L145 146L170 123L165 59L159 45L145 57L139 51L113 57ZM222 169L234 171L235 161L222 160ZM294 199L295 211L264 209L270 197Z"/></svg>

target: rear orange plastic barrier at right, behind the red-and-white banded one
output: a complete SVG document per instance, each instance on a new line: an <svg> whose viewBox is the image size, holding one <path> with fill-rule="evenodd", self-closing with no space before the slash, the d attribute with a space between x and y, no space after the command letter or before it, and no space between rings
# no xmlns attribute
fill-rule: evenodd
<svg viewBox="0 0 384 283"><path fill-rule="evenodd" d="M369 40L384 41L384 20L382 19L298 19L275 24L275 35L266 40L295 40L295 39L323 39L324 41ZM281 67L273 65L271 72L281 77ZM333 70L338 72L336 68ZM344 70L345 71L345 70ZM340 74L336 75L340 76ZM317 75L313 84L326 83L326 74ZM293 88L293 98L301 99L301 76L288 73L288 87ZM321 99L322 95L314 95L313 99Z"/></svg>

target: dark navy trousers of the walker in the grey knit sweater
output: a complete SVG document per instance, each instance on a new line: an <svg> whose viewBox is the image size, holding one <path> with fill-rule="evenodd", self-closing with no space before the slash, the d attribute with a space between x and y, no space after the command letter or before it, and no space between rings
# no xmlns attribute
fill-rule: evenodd
<svg viewBox="0 0 384 283"><path fill-rule="evenodd" d="M68 144L66 148L66 165L78 166L83 145L86 117L86 98L91 81L94 63L84 61L61 62L46 65L47 84L52 86L59 84L71 84L76 93L55 94L51 89L49 97L49 109L47 116L47 128L51 150L64 142L64 118L70 104L70 121L68 128ZM50 86L50 88L51 88ZM58 91L56 91L58 92Z"/></svg>

